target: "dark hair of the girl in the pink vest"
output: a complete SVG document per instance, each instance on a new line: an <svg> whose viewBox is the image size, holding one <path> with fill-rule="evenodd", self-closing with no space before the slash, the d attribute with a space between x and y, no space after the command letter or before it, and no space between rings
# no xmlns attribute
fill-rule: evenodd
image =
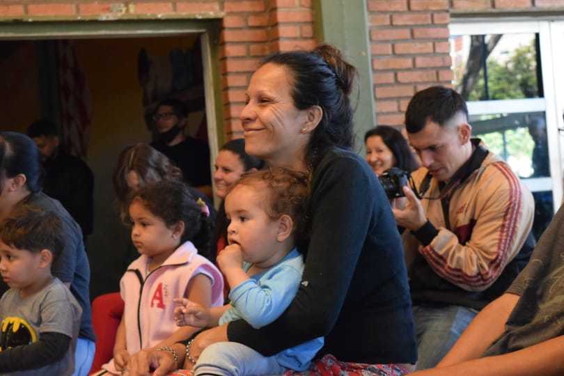
<svg viewBox="0 0 564 376"><path fill-rule="evenodd" d="M127 206L134 202L141 203L149 212L162 219L167 227L184 222L180 243L191 241L198 253L204 253L202 256L206 257L212 236L212 221L202 212L196 200L185 183L160 180L132 192ZM131 222L129 214L126 219Z"/></svg>

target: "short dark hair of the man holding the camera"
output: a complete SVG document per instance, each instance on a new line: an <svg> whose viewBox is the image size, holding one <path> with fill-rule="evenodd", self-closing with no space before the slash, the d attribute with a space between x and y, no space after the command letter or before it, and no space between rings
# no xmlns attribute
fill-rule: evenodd
<svg viewBox="0 0 564 376"><path fill-rule="evenodd" d="M428 121L444 127L457 113L468 119L468 108L462 95L451 88L432 86L418 91L407 105L405 127L408 133L417 133Z"/></svg>

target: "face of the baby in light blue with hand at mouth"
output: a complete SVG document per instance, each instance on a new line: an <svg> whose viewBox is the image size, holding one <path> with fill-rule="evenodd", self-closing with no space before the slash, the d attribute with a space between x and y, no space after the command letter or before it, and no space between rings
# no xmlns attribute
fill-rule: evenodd
<svg viewBox="0 0 564 376"><path fill-rule="evenodd" d="M225 212L230 219L227 228L229 244L241 246L243 260L265 264L279 249L280 221L268 217L262 205L267 205L267 187L237 185L226 197ZM262 188L262 189L260 189Z"/></svg>

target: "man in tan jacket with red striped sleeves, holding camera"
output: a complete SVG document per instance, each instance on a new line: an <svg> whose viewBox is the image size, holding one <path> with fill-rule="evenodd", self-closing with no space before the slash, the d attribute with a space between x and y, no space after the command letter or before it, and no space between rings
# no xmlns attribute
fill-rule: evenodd
<svg viewBox="0 0 564 376"><path fill-rule="evenodd" d="M505 162L471 139L466 103L450 88L419 91L405 114L423 167L419 199L393 202L409 268L418 369L435 366L478 311L531 256L534 202Z"/></svg>

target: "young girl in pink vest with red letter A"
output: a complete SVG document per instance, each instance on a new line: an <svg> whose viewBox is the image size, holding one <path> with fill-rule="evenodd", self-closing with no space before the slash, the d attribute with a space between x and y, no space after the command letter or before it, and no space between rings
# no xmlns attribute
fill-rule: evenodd
<svg viewBox="0 0 564 376"><path fill-rule="evenodd" d="M131 238L141 256L120 281L125 311L113 359L103 367L112 374L126 370L130 356L139 350L169 351L168 345L198 330L175 325L173 298L186 297L204 307L223 303L221 273L196 250L207 246L211 232L205 204L196 203L184 184L171 180L134 191L129 202Z"/></svg>

